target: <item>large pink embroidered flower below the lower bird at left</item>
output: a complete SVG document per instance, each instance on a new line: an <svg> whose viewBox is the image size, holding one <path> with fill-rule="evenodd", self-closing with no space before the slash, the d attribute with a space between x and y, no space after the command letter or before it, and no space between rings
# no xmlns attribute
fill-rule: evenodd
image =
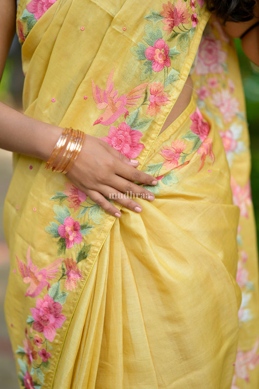
<svg viewBox="0 0 259 389"><path fill-rule="evenodd" d="M62 305L54 302L53 298L45 295L44 299L37 298L36 308L31 308L34 318L33 329L43 333L50 342L56 335L56 328L60 328L66 320L66 316L61 315Z"/></svg>

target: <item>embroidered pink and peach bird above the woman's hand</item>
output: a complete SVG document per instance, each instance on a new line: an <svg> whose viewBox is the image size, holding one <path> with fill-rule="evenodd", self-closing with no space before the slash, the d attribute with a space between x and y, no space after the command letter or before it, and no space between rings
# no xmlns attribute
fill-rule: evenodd
<svg viewBox="0 0 259 389"><path fill-rule="evenodd" d="M131 107L136 105L136 102L140 97L143 97L143 93L148 85L148 83L143 83L138 85L136 88L132 89L127 94L122 94L118 97L118 91L113 88L113 72L108 76L106 89L99 88L98 85L95 86L92 80L92 92L94 101L97 104L98 110L105 111L98 117L94 122L95 124L103 124L104 126L109 126L114 123L123 113L126 116L129 114L129 111L126 107Z"/></svg>

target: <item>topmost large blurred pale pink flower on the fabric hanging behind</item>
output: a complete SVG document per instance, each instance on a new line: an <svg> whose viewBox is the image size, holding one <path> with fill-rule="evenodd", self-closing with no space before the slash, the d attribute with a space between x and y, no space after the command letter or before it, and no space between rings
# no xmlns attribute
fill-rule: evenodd
<svg viewBox="0 0 259 389"><path fill-rule="evenodd" d="M213 34L203 37L198 51L196 74L222 74L224 71L222 64L226 61L226 57L227 54L221 50L221 40L217 40Z"/></svg>

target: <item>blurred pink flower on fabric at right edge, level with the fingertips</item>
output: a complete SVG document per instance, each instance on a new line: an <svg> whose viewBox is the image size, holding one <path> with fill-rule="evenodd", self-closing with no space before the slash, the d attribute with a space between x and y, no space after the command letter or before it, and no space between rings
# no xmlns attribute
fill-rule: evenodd
<svg viewBox="0 0 259 389"><path fill-rule="evenodd" d="M233 193L233 204L239 206L240 216L248 218L247 207L252 204L250 182L242 187L231 176L231 189Z"/></svg>

